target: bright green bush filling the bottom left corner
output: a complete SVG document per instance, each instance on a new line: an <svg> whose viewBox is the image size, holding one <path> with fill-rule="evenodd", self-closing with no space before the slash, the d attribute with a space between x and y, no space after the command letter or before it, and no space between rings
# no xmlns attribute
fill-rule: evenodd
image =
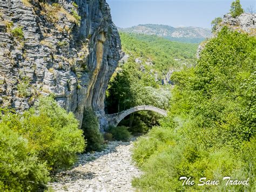
<svg viewBox="0 0 256 192"><path fill-rule="evenodd" d="M28 140L0 124L0 190L36 191L49 181L46 164L30 154Z"/></svg>

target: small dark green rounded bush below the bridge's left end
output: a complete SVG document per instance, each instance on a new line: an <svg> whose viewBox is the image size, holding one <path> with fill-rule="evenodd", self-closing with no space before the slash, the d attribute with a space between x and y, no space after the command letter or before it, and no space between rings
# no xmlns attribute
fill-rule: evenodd
<svg viewBox="0 0 256 192"><path fill-rule="evenodd" d="M117 141L129 141L131 133L127 130L127 127L109 127L109 132L113 135L113 139Z"/></svg>

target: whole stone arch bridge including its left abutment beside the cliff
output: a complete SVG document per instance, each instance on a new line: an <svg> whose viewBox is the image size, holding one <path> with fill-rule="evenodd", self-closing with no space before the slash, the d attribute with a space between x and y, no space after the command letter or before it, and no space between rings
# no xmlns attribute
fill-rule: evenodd
<svg viewBox="0 0 256 192"><path fill-rule="evenodd" d="M116 127L119 124L119 122L125 118L125 116L137 111L153 111L163 116L167 116L167 112L164 111L163 109L153 107L153 106L143 105L143 106L133 107L119 113L105 114L105 124ZM106 127L106 125L104 127Z"/></svg>

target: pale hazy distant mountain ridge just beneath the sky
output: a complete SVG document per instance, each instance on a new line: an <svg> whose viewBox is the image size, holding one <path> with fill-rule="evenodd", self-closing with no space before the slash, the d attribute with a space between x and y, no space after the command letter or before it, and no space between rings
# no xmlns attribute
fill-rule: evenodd
<svg viewBox="0 0 256 192"><path fill-rule="evenodd" d="M131 28L118 28L121 32L139 33L144 35L156 35L169 40L186 43L200 43L212 36L210 29L197 27L174 28L169 25L145 24Z"/></svg>

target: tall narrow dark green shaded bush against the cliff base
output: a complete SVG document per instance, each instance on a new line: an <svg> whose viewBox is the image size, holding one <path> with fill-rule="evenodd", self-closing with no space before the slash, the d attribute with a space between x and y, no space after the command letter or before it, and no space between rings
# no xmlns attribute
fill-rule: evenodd
<svg viewBox="0 0 256 192"><path fill-rule="evenodd" d="M99 132L98 120L92 109L84 110L82 129L87 142L86 151L102 150L104 147L104 139L103 135Z"/></svg>

